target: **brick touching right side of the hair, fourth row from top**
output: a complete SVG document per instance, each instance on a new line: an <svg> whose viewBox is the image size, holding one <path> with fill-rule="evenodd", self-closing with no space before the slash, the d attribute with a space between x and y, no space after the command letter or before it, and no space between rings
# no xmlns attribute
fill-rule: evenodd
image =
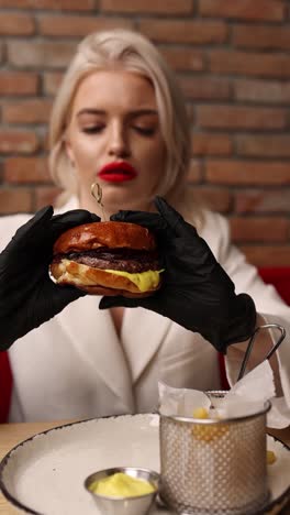
<svg viewBox="0 0 290 515"><path fill-rule="evenodd" d="M215 77L179 77L179 84L191 100L227 100L231 97L230 80Z"/></svg>

